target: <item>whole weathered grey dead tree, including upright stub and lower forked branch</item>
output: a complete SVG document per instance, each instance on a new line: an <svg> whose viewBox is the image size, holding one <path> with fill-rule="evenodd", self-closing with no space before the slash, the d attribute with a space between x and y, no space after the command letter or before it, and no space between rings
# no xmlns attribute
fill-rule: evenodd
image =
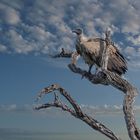
<svg viewBox="0 0 140 140"><path fill-rule="evenodd" d="M115 74L113 72L110 72L107 70L106 66L108 63L108 48L111 43L110 40L110 34L106 32L106 46L104 47L103 56L102 56L102 71L99 71L97 74L91 74L85 70L82 70L81 68L77 67L75 64L69 64L69 69L80 75L84 75L84 77L89 80L93 84L102 84L102 85L111 85L118 90L122 91L124 93L124 101L123 101L123 112L124 112L124 118L126 122L126 127L128 130L128 135L131 140L140 140L140 130L136 125L136 120L134 116L134 110L133 110L133 103L135 96L138 94L137 89L133 87L127 80L123 79L118 74ZM65 54L65 52L64 52ZM63 54L63 56L64 56ZM69 56L71 56L70 54ZM62 57L63 57L62 56ZM68 56L68 55L67 55ZM76 59L74 57L74 59ZM73 62L76 62L74 60ZM86 124L91 126L93 129L101 132L102 134L106 135L111 140L120 140L109 128L107 128L105 125L100 123L99 121L95 120L91 116L88 116L87 114L83 113L80 106L76 103L76 101L68 94L62 87L60 87L57 84L53 84L49 87L44 88L38 95L37 98L42 97L44 94L48 94L50 92L58 90L62 96L64 96L68 102L73 106L73 108L70 108L67 104L63 103L59 96L55 94L55 99L52 103L46 103L40 106L37 106L35 109L39 110L42 108L49 108L49 107L58 107L61 108L64 111L69 112L74 117L84 121Z"/></svg>

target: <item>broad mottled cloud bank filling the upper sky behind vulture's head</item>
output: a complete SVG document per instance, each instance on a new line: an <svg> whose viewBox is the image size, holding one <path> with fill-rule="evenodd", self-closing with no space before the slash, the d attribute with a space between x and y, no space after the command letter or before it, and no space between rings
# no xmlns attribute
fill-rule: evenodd
<svg viewBox="0 0 140 140"><path fill-rule="evenodd" d="M123 42L125 54L135 57L132 53L137 49L133 49L133 45L140 45L138 5L139 0L41 0L30 4L2 0L0 42L6 46L1 46L0 52L52 54L61 47L73 50L72 29L82 27L86 35L103 37L109 27L113 37L115 33L121 33L126 39L115 38Z"/></svg>

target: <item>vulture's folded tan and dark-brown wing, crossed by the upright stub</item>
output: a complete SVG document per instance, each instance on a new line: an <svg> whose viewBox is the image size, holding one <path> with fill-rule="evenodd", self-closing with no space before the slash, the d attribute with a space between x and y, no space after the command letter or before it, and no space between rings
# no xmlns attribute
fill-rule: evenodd
<svg viewBox="0 0 140 140"><path fill-rule="evenodd" d="M82 42L82 56L87 64L96 64L101 67L102 53L106 45L104 39L93 38ZM112 43L109 47L109 59L107 69L119 75L127 71L127 62L117 47Z"/></svg>

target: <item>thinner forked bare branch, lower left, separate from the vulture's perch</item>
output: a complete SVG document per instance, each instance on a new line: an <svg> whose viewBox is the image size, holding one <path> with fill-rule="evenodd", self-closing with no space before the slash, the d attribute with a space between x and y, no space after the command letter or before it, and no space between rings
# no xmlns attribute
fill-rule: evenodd
<svg viewBox="0 0 140 140"><path fill-rule="evenodd" d="M47 103L43 104L41 106L36 107L36 110L43 109L43 108L49 108L49 107L57 107L61 108L64 111L69 112L74 117L84 121L86 124L88 124L93 129L101 132L102 134L106 135L111 140L120 140L109 128L107 128L102 123L98 122L94 118L88 116L87 114L83 113L80 106L72 99L70 94L68 94L65 89L60 87L58 84L53 84L49 87L44 88L38 95L38 97L42 97L43 94L48 94L50 92L53 92L55 90L58 90L62 96L64 96L68 102L73 106L74 109L69 108L66 104L62 103L58 100L58 96L55 95L55 100L53 103ZM56 102L57 100L57 102Z"/></svg>

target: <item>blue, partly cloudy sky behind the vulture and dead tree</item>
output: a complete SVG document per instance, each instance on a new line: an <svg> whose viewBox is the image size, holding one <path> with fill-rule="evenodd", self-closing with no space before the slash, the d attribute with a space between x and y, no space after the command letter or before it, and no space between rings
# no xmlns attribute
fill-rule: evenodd
<svg viewBox="0 0 140 140"><path fill-rule="evenodd" d="M140 91L139 23L139 0L0 0L0 128L6 133L11 129L92 133L61 110L33 110L37 93L58 83L85 112L118 132L117 120L125 132L123 93L81 79L68 69L70 59L50 55L62 47L75 50L75 28L82 28L86 36L102 38L109 28L112 41L127 59L124 78ZM78 64L87 70L83 60ZM40 103L52 99L49 95ZM140 126L139 94L135 112Z"/></svg>

